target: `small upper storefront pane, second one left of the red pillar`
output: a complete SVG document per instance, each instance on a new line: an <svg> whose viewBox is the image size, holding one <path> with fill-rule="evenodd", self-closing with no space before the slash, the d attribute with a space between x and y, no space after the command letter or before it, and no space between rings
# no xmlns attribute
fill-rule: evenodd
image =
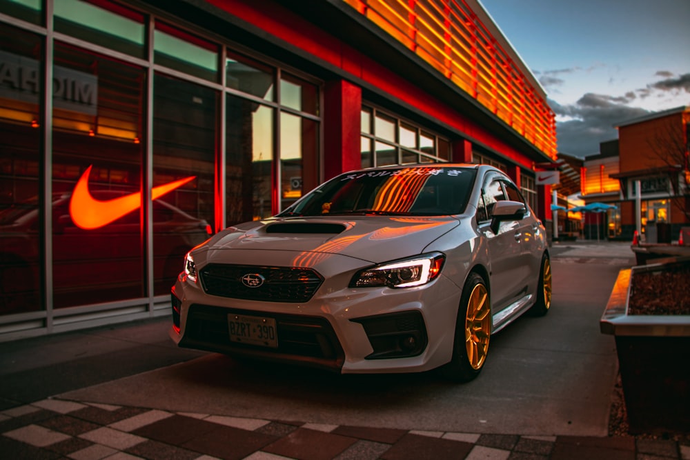
<svg viewBox="0 0 690 460"><path fill-rule="evenodd" d="M275 70L246 57L228 52L225 61L226 86L273 101Z"/></svg>

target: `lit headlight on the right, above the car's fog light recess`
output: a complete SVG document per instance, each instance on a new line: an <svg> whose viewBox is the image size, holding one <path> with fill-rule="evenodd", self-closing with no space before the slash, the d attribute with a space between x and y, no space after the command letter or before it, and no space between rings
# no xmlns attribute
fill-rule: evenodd
<svg viewBox="0 0 690 460"><path fill-rule="evenodd" d="M440 252L386 262L355 274L350 288L411 288L433 281L441 273L446 256Z"/></svg>

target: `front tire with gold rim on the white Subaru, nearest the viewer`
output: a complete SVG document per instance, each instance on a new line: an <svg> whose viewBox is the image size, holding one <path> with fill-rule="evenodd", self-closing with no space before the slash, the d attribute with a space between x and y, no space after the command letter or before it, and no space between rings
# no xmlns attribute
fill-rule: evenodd
<svg viewBox="0 0 690 460"><path fill-rule="evenodd" d="M477 273L465 281L455 322L453 358L441 368L447 379L469 382L482 372L491 338L491 299L484 279Z"/></svg>

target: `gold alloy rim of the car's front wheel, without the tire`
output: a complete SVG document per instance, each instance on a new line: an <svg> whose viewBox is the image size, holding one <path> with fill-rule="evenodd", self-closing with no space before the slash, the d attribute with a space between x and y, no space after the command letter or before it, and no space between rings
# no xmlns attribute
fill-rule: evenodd
<svg viewBox="0 0 690 460"><path fill-rule="evenodd" d="M484 366L486 352L489 350L489 337L491 337L489 295L483 284L477 284L467 301L465 317L467 360L474 370L479 370Z"/></svg>

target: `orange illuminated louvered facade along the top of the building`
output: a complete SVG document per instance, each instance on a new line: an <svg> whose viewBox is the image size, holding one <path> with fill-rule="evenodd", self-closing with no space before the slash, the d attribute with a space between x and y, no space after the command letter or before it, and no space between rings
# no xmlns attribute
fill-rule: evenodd
<svg viewBox="0 0 690 460"><path fill-rule="evenodd" d="M555 159L555 114L466 0L344 0Z"/></svg>

